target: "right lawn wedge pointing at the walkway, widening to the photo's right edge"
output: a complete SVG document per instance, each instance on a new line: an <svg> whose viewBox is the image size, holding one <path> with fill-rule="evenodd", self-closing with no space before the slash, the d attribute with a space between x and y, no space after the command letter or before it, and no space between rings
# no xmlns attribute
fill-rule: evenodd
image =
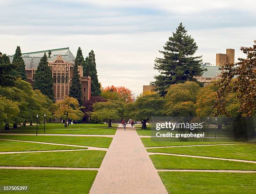
<svg viewBox="0 0 256 194"><path fill-rule="evenodd" d="M152 148L148 152L176 153L193 156L209 156L256 161L256 143L240 145L216 145L178 148Z"/></svg>

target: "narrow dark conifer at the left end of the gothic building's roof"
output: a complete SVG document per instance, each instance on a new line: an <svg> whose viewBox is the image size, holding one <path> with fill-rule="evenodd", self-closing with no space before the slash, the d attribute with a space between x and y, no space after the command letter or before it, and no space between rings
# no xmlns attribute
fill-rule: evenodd
<svg viewBox="0 0 256 194"><path fill-rule="evenodd" d="M27 80L26 73L25 73L25 62L22 59L20 51L20 46L17 46L15 54L13 56L13 65L17 66L16 74L18 77L20 77L23 80Z"/></svg>

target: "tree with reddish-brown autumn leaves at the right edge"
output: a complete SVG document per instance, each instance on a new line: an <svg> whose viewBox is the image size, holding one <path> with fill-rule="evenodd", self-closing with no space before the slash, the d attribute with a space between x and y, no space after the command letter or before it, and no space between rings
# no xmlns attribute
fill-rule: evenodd
<svg viewBox="0 0 256 194"><path fill-rule="evenodd" d="M240 49L246 54L247 58L238 59L238 63L224 64L221 79L217 82L219 87L214 107L217 112L215 115L228 115L227 96L231 92L236 92L236 99L239 101L238 112L242 116L255 115L256 109L256 41L253 47L241 47ZM236 79L233 79L237 76Z"/></svg>

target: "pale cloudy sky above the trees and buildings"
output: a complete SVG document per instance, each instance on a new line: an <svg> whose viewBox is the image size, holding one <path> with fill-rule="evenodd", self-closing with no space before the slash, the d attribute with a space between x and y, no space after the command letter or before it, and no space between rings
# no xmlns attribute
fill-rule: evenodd
<svg viewBox="0 0 256 194"><path fill-rule="evenodd" d="M256 40L255 0L0 0L0 51L13 54L68 47L93 49L102 86L135 94L154 81L154 59L180 22L215 63L216 53Z"/></svg>

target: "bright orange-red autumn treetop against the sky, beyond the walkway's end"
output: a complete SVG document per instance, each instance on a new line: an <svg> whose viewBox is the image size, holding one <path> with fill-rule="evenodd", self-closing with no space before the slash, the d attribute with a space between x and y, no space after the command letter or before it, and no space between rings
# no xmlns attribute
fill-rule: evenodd
<svg viewBox="0 0 256 194"><path fill-rule="evenodd" d="M128 88L125 88L123 86L115 87L115 86L108 86L102 89L102 96L108 99L108 96L113 98L119 98L120 100L123 100L124 102L132 102L134 99L134 94L132 91ZM111 93L113 95L111 95ZM111 99L111 100L118 100L118 99Z"/></svg>

